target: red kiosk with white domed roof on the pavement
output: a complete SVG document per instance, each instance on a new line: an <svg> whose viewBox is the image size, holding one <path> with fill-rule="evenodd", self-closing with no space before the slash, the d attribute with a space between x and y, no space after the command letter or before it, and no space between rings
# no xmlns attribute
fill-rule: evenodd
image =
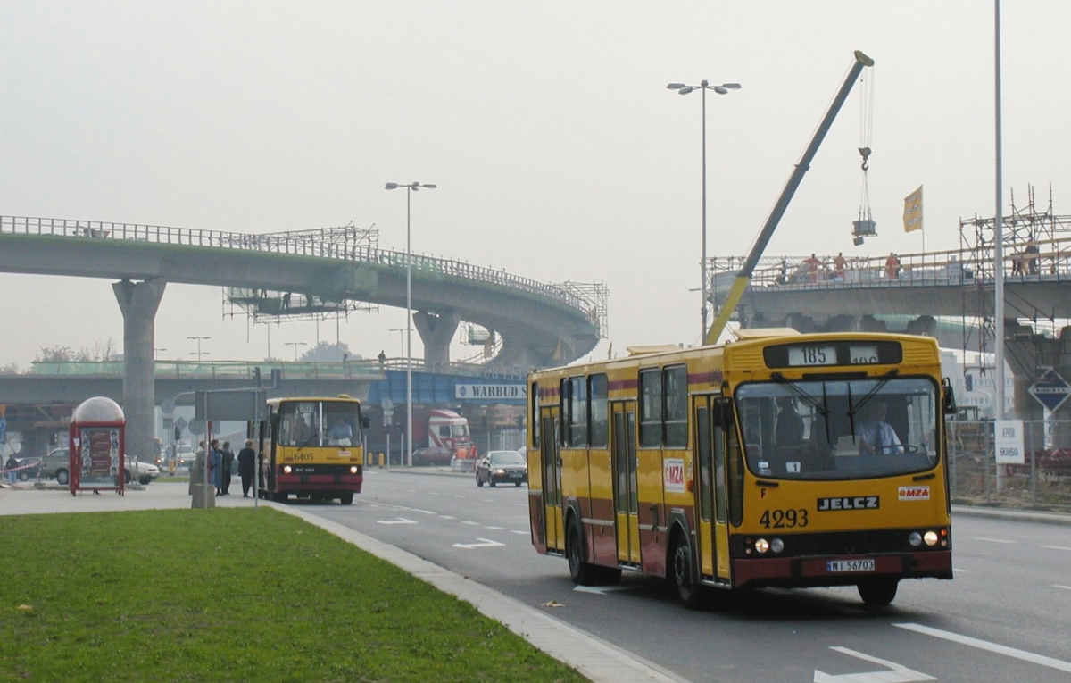
<svg viewBox="0 0 1071 683"><path fill-rule="evenodd" d="M71 415L70 487L78 491L118 491L123 495L124 431L126 419L119 404L96 396Z"/></svg>

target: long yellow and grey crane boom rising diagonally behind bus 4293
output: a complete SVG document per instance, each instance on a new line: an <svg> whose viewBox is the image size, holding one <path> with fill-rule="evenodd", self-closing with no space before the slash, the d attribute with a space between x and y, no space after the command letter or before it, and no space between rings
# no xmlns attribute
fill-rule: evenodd
<svg viewBox="0 0 1071 683"><path fill-rule="evenodd" d="M803 156L800 157L799 163L796 164L796 168L793 170L793 174L788 178L785 188L781 191L781 197L778 198L778 202L773 204L773 210L770 211L769 217L766 218L766 225L763 226L761 232L758 233L758 239L755 240L755 244L751 247L751 252L748 254L748 259L744 261L743 268L741 268L740 272L737 273L736 279L733 280L733 286L729 287L729 292L725 297L725 303L722 305L721 310L718 312L718 318L714 320L714 324L710 325L710 330L707 331L707 344L718 343L718 338L725 330L725 325L728 324L729 317L733 315L733 312L736 310L737 304L740 303L740 297L743 295L743 290L748 288L748 283L751 282L751 274L755 271L755 265L758 264L758 259L763 257L763 252L766 251L766 245L769 244L770 238L773 237L773 231L778 229L781 216L784 215L785 209L788 208L788 202L793 200L793 195L796 194L796 188L799 187L800 182L803 180L803 174L810 170L811 161L818 152L818 147L821 146L821 141L825 139L826 133L828 133L830 126L833 125L833 120L836 119L836 115L840 112L841 107L844 106L844 101L848 98L848 93L851 92L851 87L855 85L856 79L859 78L859 74L862 73L863 69L873 65L873 59L866 57L859 50L856 50L855 62L851 64L851 69L848 71L848 75L844 79L844 84L841 86L840 91L838 91L836 96L833 97L832 104L829 105L829 110L826 112L821 123L818 124L818 130L814 132L814 137L811 138L811 143L808 145L806 150L803 152Z"/></svg>

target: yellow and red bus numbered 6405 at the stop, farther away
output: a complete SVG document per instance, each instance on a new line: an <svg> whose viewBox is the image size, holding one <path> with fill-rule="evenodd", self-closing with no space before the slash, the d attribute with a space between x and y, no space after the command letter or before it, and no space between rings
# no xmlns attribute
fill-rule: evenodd
<svg viewBox="0 0 1071 683"><path fill-rule="evenodd" d="M364 481L361 401L334 398L273 398L268 401L267 438L260 443L260 496L285 501L353 502ZM265 435L261 429L261 435Z"/></svg>

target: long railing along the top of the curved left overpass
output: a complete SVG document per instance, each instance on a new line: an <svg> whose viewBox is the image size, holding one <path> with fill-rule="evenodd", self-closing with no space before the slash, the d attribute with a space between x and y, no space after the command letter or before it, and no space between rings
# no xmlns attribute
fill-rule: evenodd
<svg viewBox="0 0 1071 683"><path fill-rule="evenodd" d="M131 240L156 244L180 244L216 248L247 249L275 254L293 254L316 258L341 259L358 263L375 263L404 268L406 254L380 249L368 243L347 244L316 239L315 232L246 233L197 228L108 223L103 221L72 221L67 218L36 218L27 216L0 216L0 232L14 234L48 234L88 240ZM412 269L417 272L476 280L485 285L499 285L526 291L582 312L597 328L600 317L597 302L577 297L556 285L540 283L482 265L456 259L437 258L423 254L412 255Z"/></svg>

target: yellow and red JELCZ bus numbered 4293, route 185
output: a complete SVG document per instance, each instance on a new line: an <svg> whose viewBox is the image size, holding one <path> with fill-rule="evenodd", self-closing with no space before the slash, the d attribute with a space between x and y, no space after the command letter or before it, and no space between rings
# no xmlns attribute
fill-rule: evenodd
<svg viewBox="0 0 1071 683"><path fill-rule="evenodd" d="M937 343L741 330L529 375L531 538L577 583L708 589L952 578Z"/></svg>

